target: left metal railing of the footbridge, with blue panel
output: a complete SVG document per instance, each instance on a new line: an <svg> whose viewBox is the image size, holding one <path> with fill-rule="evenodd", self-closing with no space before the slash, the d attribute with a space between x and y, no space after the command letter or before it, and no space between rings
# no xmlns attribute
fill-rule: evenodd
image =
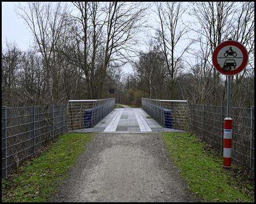
<svg viewBox="0 0 256 204"><path fill-rule="evenodd" d="M68 131L92 128L115 108L115 99L69 100L67 106Z"/></svg>

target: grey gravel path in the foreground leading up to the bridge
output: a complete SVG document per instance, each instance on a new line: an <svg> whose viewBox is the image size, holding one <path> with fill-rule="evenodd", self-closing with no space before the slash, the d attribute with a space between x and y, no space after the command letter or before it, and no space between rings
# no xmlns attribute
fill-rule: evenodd
<svg viewBox="0 0 256 204"><path fill-rule="evenodd" d="M53 202L194 202L160 134L97 134Z"/></svg>

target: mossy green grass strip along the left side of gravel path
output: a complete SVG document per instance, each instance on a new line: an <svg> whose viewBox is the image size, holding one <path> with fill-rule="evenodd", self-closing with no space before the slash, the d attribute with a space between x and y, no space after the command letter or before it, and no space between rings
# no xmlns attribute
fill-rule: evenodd
<svg viewBox="0 0 256 204"><path fill-rule="evenodd" d="M14 176L2 179L2 202L47 202L93 136L61 135L55 143L44 148L40 156L22 165Z"/></svg>

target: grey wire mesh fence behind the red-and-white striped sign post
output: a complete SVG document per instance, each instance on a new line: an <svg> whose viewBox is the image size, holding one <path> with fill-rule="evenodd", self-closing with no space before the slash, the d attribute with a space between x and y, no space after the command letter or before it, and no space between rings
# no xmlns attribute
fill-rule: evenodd
<svg viewBox="0 0 256 204"><path fill-rule="evenodd" d="M226 107L191 105L191 130L218 152L224 147ZM254 107L230 108L232 118L232 162L254 177Z"/></svg>

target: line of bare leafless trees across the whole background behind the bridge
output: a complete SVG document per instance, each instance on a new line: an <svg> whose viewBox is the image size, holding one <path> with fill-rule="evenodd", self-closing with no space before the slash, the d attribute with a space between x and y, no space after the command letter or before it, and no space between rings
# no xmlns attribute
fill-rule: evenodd
<svg viewBox="0 0 256 204"><path fill-rule="evenodd" d="M232 76L231 105L254 106L254 2L28 2L16 14L34 42L26 51L2 45L2 105L103 99L110 88L137 107L141 97L226 104L227 78L211 58L232 38L250 57Z"/></svg>

